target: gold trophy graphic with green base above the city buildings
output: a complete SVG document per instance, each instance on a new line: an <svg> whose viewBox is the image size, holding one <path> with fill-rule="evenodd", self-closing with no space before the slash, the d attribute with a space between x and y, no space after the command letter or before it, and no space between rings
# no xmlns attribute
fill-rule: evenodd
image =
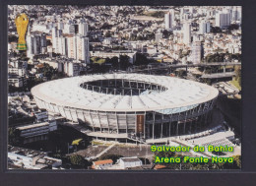
<svg viewBox="0 0 256 186"><path fill-rule="evenodd" d="M27 50L27 44L25 40L25 35L27 32L29 18L26 14L19 14L15 19L15 24L17 27L17 32L19 34L19 40L17 44L18 50Z"/></svg>

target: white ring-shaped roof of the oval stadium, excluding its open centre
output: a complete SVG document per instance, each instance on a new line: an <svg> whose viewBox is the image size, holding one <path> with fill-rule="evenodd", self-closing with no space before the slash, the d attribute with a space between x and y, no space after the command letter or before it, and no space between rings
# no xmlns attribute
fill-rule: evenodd
<svg viewBox="0 0 256 186"><path fill-rule="evenodd" d="M158 84L166 88L160 93L120 95L96 93L80 87L96 80L124 79ZM148 92L148 91L147 91ZM218 96L217 89L205 84L167 76L142 74L102 74L65 78L39 84L32 95L48 103L98 111L149 111L172 113L191 109Z"/></svg>

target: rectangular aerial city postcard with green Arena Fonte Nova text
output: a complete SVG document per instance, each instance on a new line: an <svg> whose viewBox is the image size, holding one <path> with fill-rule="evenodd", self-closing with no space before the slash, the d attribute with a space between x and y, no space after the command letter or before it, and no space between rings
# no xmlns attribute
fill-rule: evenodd
<svg viewBox="0 0 256 186"><path fill-rule="evenodd" d="M8 6L8 169L241 169L241 6Z"/></svg>

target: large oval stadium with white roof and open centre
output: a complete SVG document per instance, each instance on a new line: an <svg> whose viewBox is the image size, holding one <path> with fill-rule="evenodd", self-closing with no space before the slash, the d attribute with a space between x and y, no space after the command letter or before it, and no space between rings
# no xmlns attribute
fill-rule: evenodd
<svg viewBox="0 0 256 186"><path fill-rule="evenodd" d="M39 108L107 139L160 139L203 131L218 94L198 82L143 74L64 78L32 88Z"/></svg>

